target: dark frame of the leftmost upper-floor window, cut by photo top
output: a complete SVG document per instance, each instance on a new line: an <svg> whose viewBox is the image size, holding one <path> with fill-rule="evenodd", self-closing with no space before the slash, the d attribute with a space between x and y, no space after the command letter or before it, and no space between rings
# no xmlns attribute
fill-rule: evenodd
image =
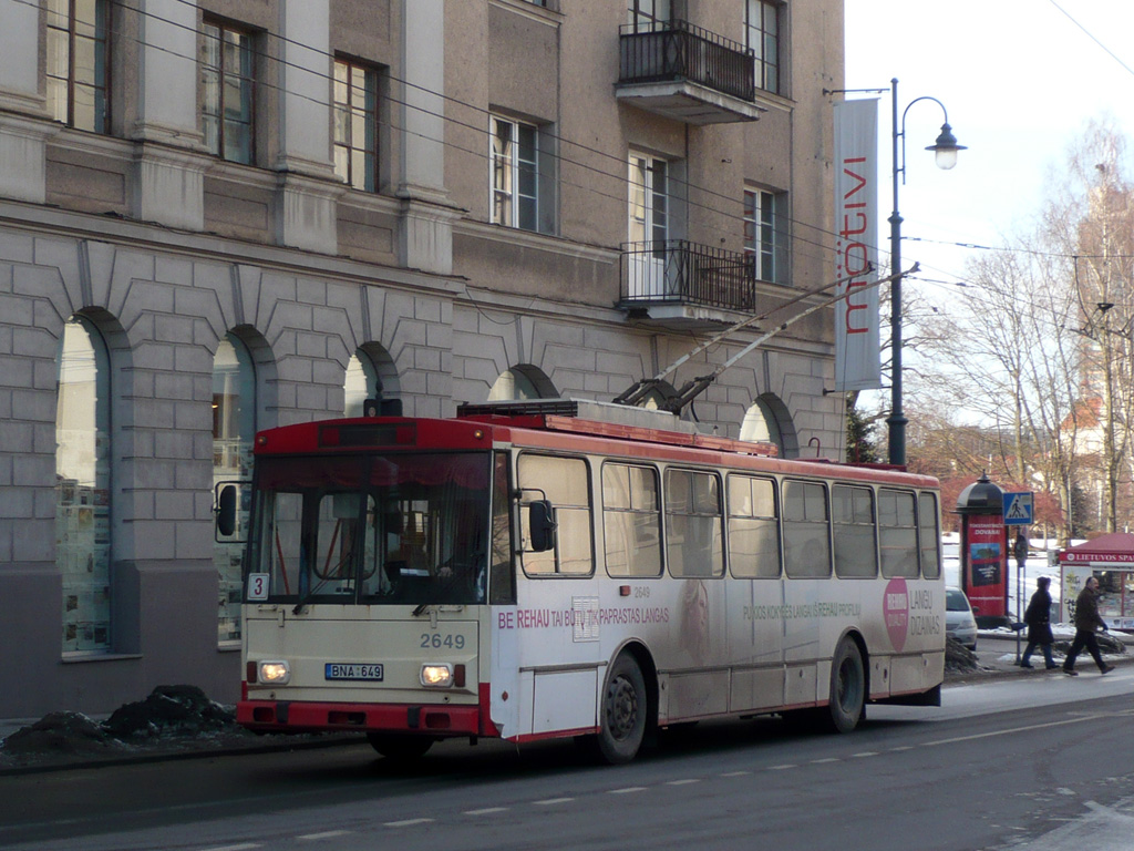
<svg viewBox="0 0 1134 851"><path fill-rule="evenodd" d="M91 22L78 20L79 1L53 0L53 2L46 5L44 10L46 16L46 65L44 74L46 79L48 109L52 112L54 120L68 127L107 135L110 133L111 34L113 33L115 7L110 0L93 0L91 9L94 11L94 22L92 24ZM66 11L52 9L52 5L65 6ZM54 23L60 19L62 19L65 26L59 26ZM90 28L92 34L85 35L82 32L84 28ZM58 35L60 33L61 35ZM66 41L67 67L64 69L56 68L53 62L57 53L52 47L59 39ZM79 42L91 42L94 45L92 49L94 67L84 69L90 71L91 79L79 79L79 69L76 67L76 56L81 52L76 50L76 45ZM62 74L52 73L59 70ZM62 92L60 93L59 90L62 90ZM90 124L77 120L76 113L78 110L76 103L78 100L78 90L90 90L92 93L92 120ZM62 107L61 110L60 107Z"/></svg>

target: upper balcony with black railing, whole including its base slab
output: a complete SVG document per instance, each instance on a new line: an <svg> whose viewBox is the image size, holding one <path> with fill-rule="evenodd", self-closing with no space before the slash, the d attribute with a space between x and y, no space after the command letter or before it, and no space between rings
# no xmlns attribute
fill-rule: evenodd
<svg viewBox="0 0 1134 851"><path fill-rule="evenodd" d="M686 124L754 121L755 59L737 42L684 20L623 25L615 96Z"/></svg>

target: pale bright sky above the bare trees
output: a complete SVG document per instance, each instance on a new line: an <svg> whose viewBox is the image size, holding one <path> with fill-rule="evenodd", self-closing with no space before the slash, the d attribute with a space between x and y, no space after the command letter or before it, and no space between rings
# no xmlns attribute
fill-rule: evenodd
<svg viewBox="0 0 1134 851"><path fill-rule="evenodd" d="M899 81L899 121L916 98L937 98L968 148L955 169L938 169L924 148L945 120L940 107L921 101L907 112L906 183L898 189L903 266L920 261L925 277L964 277L974 250L911 237L1002 245L1005 235L1031 229L1052 169L1066 162L1088 119L1109 113L1134 134L1134 0L845 3L846 87L887 90L878 95L885 250L894 168L890 79ZM938 287L938 295L949 289Z"/></svg>

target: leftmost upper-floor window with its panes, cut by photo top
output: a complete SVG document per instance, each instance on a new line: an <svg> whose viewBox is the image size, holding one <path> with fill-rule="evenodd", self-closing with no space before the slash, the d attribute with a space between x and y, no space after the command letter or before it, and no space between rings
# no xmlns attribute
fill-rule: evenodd
<svg viewBox="0 0 1134 851"><path fill-rule="evenodd" d="M48 0L46 78L54 120L109 132L110 0Z"/></svg>

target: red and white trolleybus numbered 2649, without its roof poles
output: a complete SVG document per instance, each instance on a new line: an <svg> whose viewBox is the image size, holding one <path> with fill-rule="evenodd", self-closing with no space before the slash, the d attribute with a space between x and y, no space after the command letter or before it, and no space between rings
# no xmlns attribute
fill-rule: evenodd
<svg viewBox="0 0 1134 851"><path fill-rule="evenodd" d="M544 401L261 432L239 723L619 762L703 718L938 705L937 481L676 424Z"/></svg>

